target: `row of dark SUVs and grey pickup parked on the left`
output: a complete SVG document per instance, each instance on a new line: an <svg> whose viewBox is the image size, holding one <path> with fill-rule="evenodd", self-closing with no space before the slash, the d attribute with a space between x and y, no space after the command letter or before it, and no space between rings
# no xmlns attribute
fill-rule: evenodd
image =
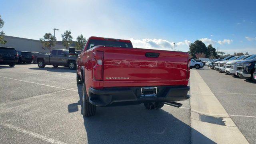
<svg viewBox="0 0 256 144"><path fill-rule="evenodd" d="M40 68L45 65L68 66L70 69L76 68L76 58L81 51L75 51L74 48L70 50L53 49L51 53L16 51L10 47L0 47L0 64L8 64L13 67L16 63L32 62L38 63Z"/></svg>

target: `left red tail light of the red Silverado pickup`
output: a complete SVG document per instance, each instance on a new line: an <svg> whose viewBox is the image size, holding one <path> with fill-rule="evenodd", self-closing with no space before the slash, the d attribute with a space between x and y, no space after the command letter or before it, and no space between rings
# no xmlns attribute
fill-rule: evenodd
<svg viewBox="0 0 256 144"><path fill-rule="evenodd" d="M93 52L92 66L92 78L94 80L103 80L103 52Z"/></svg>

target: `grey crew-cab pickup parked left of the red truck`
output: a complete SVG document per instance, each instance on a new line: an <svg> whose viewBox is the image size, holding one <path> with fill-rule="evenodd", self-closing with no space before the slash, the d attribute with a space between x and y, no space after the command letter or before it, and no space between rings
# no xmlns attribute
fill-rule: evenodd
<svg viewBox="0 0 256 144"><path fill-rule="evenodd" d="M34 62L39 68L44 68L46 65L52 65L54 68L58 66L67 66L71 70L76 69L75 55L70 55L69 50L53 49L51 54L34 54Z"/></svg>

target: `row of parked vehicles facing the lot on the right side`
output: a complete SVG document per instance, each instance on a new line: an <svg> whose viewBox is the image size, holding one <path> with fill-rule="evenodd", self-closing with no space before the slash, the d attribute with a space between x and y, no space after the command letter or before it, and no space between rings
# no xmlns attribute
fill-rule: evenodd
<svg viewBox="0 0 256 144"><path fill-rule="evenodd" d="M206 62L206 66L256 82L256 54L213 59Z"/></svg>

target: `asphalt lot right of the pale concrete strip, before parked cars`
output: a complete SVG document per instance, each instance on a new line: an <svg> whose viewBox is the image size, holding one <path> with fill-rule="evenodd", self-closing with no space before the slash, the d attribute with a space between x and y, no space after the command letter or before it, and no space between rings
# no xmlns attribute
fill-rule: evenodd
<svg viewBox="0 0 256 144"><path fill-rule="evenodd" d="M256 144L256 84L208 67L197 71L248 142Z"/></svg>

